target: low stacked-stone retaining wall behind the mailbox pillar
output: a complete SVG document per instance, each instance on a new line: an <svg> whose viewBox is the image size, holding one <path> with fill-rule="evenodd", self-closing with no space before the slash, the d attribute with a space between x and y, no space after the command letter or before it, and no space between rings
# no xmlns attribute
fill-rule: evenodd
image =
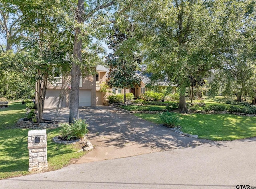
<svg viewBox="0 0 256 189"><path fill-rule="evenodd" d="M56 128L59 127L58 124L53 124L53 123L34 123L33 121L24 121L22 119L19 119L17 122L17 127L18 128L29 128L29 129L47 129L47 128Z"/></svg>

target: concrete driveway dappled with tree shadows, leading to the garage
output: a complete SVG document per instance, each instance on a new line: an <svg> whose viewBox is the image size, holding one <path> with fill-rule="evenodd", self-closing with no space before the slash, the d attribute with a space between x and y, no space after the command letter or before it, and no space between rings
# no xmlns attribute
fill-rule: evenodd
<svg viewBox="0 0 256 189"><path fill-rule="evenodd" d="M54 109L44 111L52 119ZM68 121L69 109L60 113L60 121ZM128 157L156 151L196 147L213 141L185 137L170 128L144 121L114 107L96 106L79 109L79 117L89 123L88 140L95 149L77 163Z"/></svg>

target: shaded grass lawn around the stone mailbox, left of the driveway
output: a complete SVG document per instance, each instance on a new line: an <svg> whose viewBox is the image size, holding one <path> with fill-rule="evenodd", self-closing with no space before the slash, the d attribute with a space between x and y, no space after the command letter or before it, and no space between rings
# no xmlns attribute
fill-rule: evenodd
<svg viewBox="0 0 256 189"><path fill-rule="evenodd" d="M25 117L21 103L10 103L9 108L1 109L0 117L0 179L30 174L28 172L28 130L11 129L18 119ZM2 118L4 121L2 122ZM6 126L6 124L8 126ZM59 135L60 128L47 129L48 171L60 169L82 157L78 153L80 144L57 144L52 138Z"/></svg>

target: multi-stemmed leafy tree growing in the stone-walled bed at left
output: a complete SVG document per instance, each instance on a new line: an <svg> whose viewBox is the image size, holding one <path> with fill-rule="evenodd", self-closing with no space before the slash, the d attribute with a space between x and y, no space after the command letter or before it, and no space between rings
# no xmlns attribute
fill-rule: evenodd
<svg viewBox="0 0 256 189"><path fill-rule="evenodd" d="M48 82L53 81L54 67L61 67L62 73L69 62L70 36L65 11L62 4L55 1L26 4L17 2L22 12L20 20L25 35L19 40L19 52L16 53L16 69L23 73L30 86L36 83L37 121L42 121L44 98Z"/></svg>

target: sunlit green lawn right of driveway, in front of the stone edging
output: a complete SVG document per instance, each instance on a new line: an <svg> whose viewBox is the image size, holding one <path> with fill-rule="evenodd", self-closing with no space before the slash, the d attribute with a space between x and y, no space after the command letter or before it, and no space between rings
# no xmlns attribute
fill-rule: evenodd
<svg viewBox="0 0 256 189"><path fill-rule="evenodd" d="M163 123L158 114L134 114L152 123ZM235 140L256 137L256 117L232 114L180 114L180 126L184 133L198 135L202 139Z"/></svg>

